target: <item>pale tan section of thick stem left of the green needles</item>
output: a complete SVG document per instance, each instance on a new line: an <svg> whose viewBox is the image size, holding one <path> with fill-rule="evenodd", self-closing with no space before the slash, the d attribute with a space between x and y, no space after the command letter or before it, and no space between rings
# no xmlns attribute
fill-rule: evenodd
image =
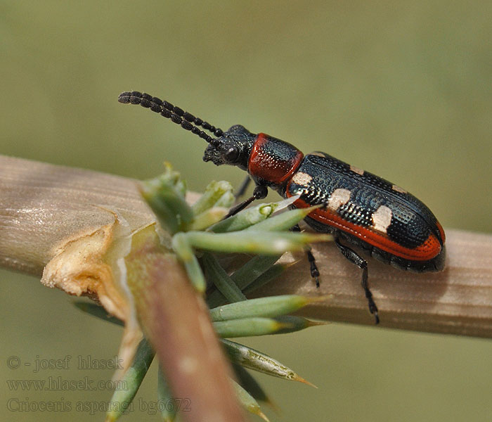
<svg viewBox="0 0 492 422"><path fill-rule="evenodd" d="M109 211L111 210L111 211ZM134 180L0 155L0 265L41 276L68 241L153 222Z"/></svg>

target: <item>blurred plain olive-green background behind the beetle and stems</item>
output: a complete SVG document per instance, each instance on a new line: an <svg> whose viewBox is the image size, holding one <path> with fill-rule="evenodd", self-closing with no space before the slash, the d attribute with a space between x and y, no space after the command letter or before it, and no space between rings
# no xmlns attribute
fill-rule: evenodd
<svg viewBox="0 0 492 422"><path fill-rule="evenodd" d="M161 96L227 129L243 124L407 188L444 227L492 231L492 3L482 1L1 1L0 153L127 177L168 160L200 190L243 174L202 162L205 143L121 91ZM109 390L22 391L7 380L110 380L121 330L37 279L0 271L2 421L102 421L75 409ZM492 419L492 342L332 324L246 340L318 390L259 376L272 421ZM72 355L70 369L21 362ZM122 420L157 421L155 368ZM72 403L9 411L8 399ZM12 404L12 402L11 402Z"/></svg>

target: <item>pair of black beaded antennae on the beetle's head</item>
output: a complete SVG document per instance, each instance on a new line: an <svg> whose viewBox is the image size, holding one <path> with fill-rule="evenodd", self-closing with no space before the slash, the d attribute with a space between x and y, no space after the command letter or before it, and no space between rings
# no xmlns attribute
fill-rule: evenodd
<svg viewBox="0 0 492 422"><path fill-rule="evenodd" d="M155 113L159 113L163 117L170 119L171 122L179 124L183 129L189 130L191 133L200 136L208 143L214 141L215 138L206 134L199 127L212 132L215 136L222 136L224 132L219 127L215 127L209 122L204 122L200 117L195 117L191 113L184 111L182 108L173 106L167 101L162 101L160 98L138 91L127 91L119 94L118 101L123 104L140 104L142 107L150 108Z"/></svg>

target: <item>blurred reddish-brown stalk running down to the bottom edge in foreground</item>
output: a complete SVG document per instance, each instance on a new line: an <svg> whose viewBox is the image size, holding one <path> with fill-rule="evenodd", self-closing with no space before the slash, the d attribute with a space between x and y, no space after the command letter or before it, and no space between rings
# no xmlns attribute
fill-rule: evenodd
<svg viewBox="0 0 492 422"><path fill-rule="evenodd" d="M188 283L176 256L165 251L154 236L153 227L136 234L135 247L125 261L134 279L131 289L145 334L174 397L189 403L181 418L244 421L207 306Z"/></svg>

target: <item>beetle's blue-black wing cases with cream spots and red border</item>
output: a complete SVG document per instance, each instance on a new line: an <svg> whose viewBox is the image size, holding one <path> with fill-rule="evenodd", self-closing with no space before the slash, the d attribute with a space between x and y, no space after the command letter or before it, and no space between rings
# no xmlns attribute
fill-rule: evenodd
<svg viewBox="0 0 492 422"><path fill-rule="evenodd" d="M436 217L389 181L314 153L306 155L285 188L286 197L298 194L295 207L326 204L306 219L317 231L339 231L351 243L402 269L444 267L444 231Z"/></svg>

